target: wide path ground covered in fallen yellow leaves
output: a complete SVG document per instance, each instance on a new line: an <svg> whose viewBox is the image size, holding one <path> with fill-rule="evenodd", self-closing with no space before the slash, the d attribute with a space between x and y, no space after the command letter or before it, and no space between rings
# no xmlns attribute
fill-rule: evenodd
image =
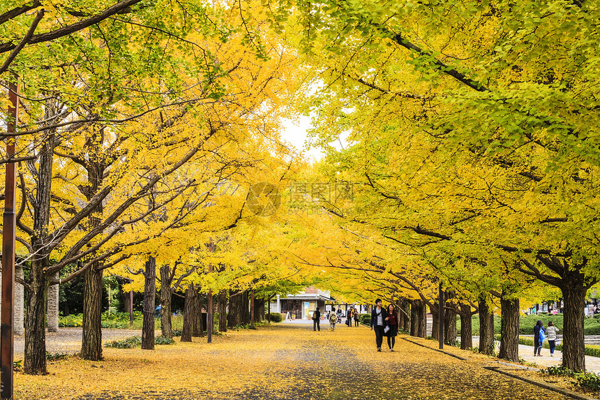
<svg viewBox="0 0 600 400"><path fill-rule="evenodd" d="M501 399L551 396L398 336L375 351L366 327L313 332L275 324L156 350L105 348L103 362L71 357L47 376L15 376L17 399ZM387 348L387 346L384 346Z"/></svg>

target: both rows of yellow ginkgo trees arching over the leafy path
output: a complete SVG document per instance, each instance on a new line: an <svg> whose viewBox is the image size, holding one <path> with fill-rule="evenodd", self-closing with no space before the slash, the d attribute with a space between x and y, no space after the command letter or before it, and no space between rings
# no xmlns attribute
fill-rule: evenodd
<svg viewBox="0 0 600 400"><path fill-rule="evenodd" d="M509 360L519 299L556 288L564 366L584 370L583 301L600 279L599 12L534 0L15 4L0 15L0 72L23 82L19 151L3 163L20 165L25 371L46 370L48 288L77 276L81 354L100 359L106 269L148 294L146 313L158 283L165 336L179 290L189 316L210 290L234 318L238 293L268 299L316 276L348 299L397 302L417 335L426 306L463 329L479 312L489 352L497 299ZM291 105L313 112L328 151L313 168L278 137ZM257 182L276 185L248 207ZM186 339L197 325L186 320Z"/></svg>

